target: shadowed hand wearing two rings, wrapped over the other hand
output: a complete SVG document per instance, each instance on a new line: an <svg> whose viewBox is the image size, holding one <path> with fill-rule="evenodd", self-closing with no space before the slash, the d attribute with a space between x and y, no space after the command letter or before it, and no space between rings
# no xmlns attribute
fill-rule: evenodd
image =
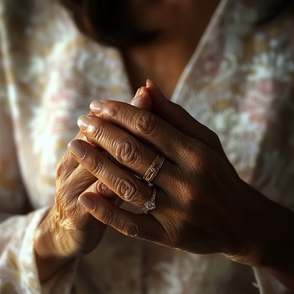
<svg viewBox="0 0 294 294"><path fill-rule="evenodd" d="M81 203L126 235L193 253L224 253L241 263L292 273L293 213L238 177L212 131L164 100L154 85L147 89L152 111L165 121L126 103L95 101L97 117L82 116L79 125L89 140L139 177L157 153L166 156L152 182L156 208L148 215L134 214L94 193L83 193ZM89 143L74 144L79 151L72 149L72 156L81 165L124 201L144 208L151 197L148 185ZM285 250L287 258L281 259Z"/></svg>

